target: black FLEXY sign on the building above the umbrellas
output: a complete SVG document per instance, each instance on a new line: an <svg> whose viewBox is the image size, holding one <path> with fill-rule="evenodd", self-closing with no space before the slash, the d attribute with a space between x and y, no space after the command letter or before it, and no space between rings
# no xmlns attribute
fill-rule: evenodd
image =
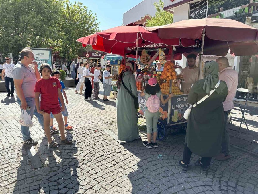
<svg viewBox="0 0 258 194"><path fill-rule="evenodd" d="M189 19L206 18L208 0L198 1L190 4Z"/></svg>

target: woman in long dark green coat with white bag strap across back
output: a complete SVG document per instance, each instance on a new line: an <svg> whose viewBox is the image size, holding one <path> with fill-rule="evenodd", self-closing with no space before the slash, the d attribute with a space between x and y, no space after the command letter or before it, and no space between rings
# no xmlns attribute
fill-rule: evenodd
<svg viewBox="0 0 258 194"><path fill-rule="evenodd" d="M192 108L188 118L183 160L179 165L183 170L189 169L192 152L202 156L198 164L203 169L210 166L211 158L218 155L221 148L222 134L224 130L224 109L222 102L228 95L226 82L220 81L218 88L218 63L208 62L204 66L204 79L198 80L188 95L188 102L195 104L206 94L210 95L202 103Z"/></svg>

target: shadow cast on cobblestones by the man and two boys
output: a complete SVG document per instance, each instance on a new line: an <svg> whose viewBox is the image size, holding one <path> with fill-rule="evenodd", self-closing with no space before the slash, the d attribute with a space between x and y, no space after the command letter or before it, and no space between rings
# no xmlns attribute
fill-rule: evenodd
<svg viewBox="0 0 258 194"><path fill-rule="evenodd" d="M72 134L67 132L71 139ZM78 160L76 142L71 145L61 143L59 135L54 135L57 148L49 148L44 137L40 145L36 145L43 168L32 169L26 148L22 148L21 166L18 168L14 193L76 193L79 190L77 180Z"/></svg>

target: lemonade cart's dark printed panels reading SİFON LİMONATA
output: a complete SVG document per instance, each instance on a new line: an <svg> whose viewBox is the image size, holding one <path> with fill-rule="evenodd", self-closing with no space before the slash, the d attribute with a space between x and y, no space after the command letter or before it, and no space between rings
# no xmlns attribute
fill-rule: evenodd
<svg viewBox="0 0 258 194"><path fill-rule="evenodd" d="M138 91L137 93L139 101L138 115L145 116L146 99L144 96L140 96L141 91ZM168 96L163 95L163 97L166 99ZM188 94L174 95L165 105L160 103L160 119L163 120L164 123L167 123L167 126L187 122L183 117L185 110L190 106L187 102L187 97Z"/></svg>

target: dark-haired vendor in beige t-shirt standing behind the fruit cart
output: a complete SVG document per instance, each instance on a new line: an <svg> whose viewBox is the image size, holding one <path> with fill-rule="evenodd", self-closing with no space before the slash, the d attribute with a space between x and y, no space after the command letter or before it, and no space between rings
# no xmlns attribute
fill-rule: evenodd
<svg viewBox="0 0 258 194"><path fill-rule="evenodd" d="M195 84L198 80L198 72L199 68L195 65L196 64L196 56L195 54L190 54L187 57L187 64L188 67L183 69L183 80L182 88L183 89L191 89L192 84ZM202 79L202 75L201 78Z"/></svg>

